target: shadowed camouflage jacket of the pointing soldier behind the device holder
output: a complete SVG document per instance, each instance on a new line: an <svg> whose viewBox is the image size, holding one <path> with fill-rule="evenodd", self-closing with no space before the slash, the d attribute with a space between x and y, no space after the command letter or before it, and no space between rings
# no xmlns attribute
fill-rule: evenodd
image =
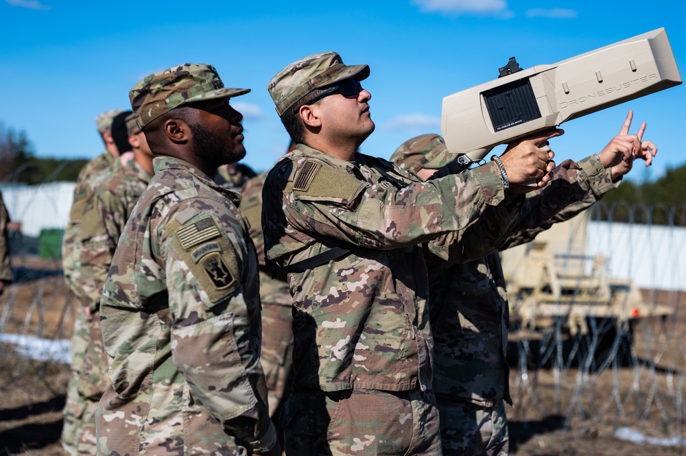
<svg viewBox="0 0 686 456"><path fill-rule="evenodd" d="M547 187L528 193L502 248L533 239L615 188L597 155L556 167ZM434 330L434 392L493 407L512 403L506 361L509 309L497 253L464 264L427 256Z"/></svg>

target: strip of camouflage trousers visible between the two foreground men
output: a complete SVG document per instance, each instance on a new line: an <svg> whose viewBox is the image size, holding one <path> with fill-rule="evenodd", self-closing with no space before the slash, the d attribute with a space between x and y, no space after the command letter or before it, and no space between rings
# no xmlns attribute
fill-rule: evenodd
<svg viewBox="0 0 686 456"><path fill-rule="evenodd" d="M293 380L293 315L290 306L262 303L262 369L267 382L269 416L283 409Z"/></svg>

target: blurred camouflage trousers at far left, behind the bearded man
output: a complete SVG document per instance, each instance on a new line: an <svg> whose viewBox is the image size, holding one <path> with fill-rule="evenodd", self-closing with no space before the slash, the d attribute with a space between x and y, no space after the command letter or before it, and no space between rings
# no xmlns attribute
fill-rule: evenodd
<svg viewBox="0 0 686 456"><path fill-rule="evenodd" d="M62 446L71 456L95 455L95 411L109 385L99 315L78 315L71 337L71 372L64 405Z"/></svg>

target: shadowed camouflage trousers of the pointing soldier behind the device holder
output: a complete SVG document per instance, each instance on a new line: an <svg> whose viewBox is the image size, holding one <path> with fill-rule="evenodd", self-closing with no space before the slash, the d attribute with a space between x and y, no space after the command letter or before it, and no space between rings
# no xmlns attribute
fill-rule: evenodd
<svg viewBox="0 0 686 456"><path fill-rule="evenodd" d="M510 437L505 405L481 407L438 398L440 436L445 456L506 456Z"/></svg>

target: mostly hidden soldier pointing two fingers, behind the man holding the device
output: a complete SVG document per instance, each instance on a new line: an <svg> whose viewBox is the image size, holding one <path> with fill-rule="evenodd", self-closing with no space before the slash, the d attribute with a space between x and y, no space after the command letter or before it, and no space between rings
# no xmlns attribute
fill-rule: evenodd
<svg viewBox="0 0 686 456"><path fill-rule="evenodd" d="M527 195L503 248L528 242L600 200L631 169L635 157L650 164L657 149L640 142L645 124L639 134L628 135L630 117L600 154L579 163L565 160L547 187ZM624 155L627 160L617 163ZM425 179L455 157L440 136L426 134L403 143L391 160ZM506 455L504 401L512 405L506 360L509 308L499 256L494 252L456 264L427 254L427 268L443 454Z"/></svg>

